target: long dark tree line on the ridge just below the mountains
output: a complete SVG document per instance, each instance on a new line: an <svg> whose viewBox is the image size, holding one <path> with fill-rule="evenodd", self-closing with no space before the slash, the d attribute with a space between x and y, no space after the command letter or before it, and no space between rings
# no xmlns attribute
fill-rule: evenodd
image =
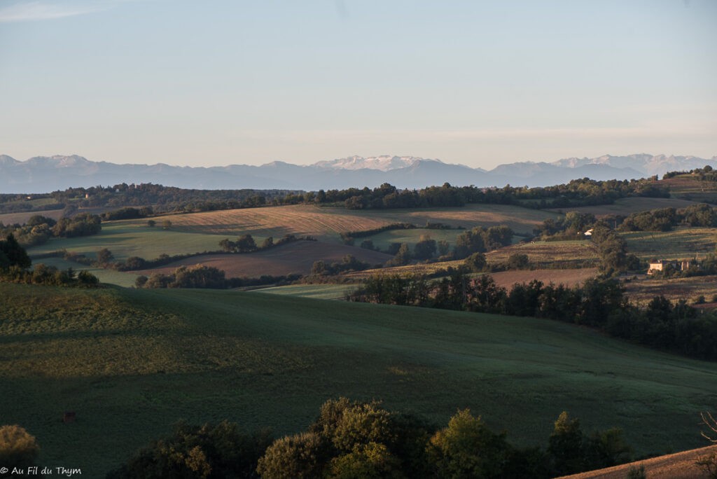
<svg viewBox="0 0 717 479"><path fill-rule="evenodd" d="M364 187L298 190L199 190L158 184L115 184L90 188L69 188L46 194L0 194L0 213L65 209L70 216L78 208L135 207L151 205L154 212L201 212L221 209L278 206L283 204L326 204L350 209L386 209L419 207L460 207L468 203L517 204L529 208L581 207L612 204L625 196L667 197L669 191L656 179L594 181L576 179L568 184L547 187L478 188L475 186L428 186L424 189L398 190L391 184ZM50 201L39 201L47 200ZM38 202L39 201L39 202ZM144 212L146 216L147 212Z"/></svg>

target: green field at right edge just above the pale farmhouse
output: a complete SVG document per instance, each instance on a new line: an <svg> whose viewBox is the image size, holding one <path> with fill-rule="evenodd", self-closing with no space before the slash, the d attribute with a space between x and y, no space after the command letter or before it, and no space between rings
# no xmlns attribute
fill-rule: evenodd
<svg viewBox="0 0 717 479"><path fill-rule="evenodd" d="M685 227L668 232L640 231L622 233L627 251L643 260L689 260L715 251L717 228Z"/></svg>

